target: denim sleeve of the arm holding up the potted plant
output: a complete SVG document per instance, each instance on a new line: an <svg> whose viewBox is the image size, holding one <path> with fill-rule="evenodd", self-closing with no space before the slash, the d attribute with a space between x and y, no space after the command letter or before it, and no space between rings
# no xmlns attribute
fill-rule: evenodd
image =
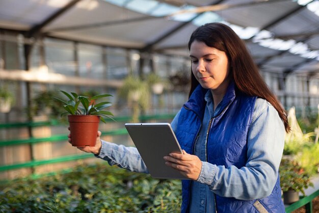
<svg viewBox="0 0 319 213"><path fill-rule="evenodd" d="M131 172L149 173L137 148L125 147L104 140L101 140L101 143L101 151L99 155L95 155L96 157L107 160L110 165L117 165Z"/></svg>

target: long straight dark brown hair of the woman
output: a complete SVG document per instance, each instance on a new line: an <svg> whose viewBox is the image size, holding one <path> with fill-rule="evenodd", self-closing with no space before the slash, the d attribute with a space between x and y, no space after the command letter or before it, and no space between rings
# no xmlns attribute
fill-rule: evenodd
<svg viewBox="0 0 319 213"><path fill-rule="evenodd" d="M223 23L206 23L191 35L189 49L194 40L225 52L230 66L230 78L234 80L236 87L249 96L257 96L271 103L278 111L286 132L290 130L286 111L264 82L244 41L230 27ZM199 84L193 72L191 76L190 95Z"/></svg>

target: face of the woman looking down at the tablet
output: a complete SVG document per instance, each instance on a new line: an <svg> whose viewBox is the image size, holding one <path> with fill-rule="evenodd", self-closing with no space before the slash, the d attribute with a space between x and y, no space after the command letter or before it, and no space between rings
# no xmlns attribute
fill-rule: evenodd
<svg viewBox="0 0 319 213"><path fill-rule="evenodd" d="M192 72L203 88L214 94L225 93L228 86L228 58L226 53L194 40L190 48Z"/></svg>

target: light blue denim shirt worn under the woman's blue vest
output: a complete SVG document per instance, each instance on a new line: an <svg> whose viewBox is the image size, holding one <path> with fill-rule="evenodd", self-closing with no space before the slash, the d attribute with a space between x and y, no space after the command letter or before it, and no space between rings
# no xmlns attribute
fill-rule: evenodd
<svg viewBox="0 0 319 213"><path fill-rule="evenodd" d="M218 106L213 112L211 98L208 94L205 99L207 107L202 126L206 125L206 127L201 130L204 132L207 130L205 120L221 110ZM173 130L176 128L178 115L179 113L176 114L171 123ZM238 172L235 168L228 170L223 166L206 162L202 158L203 152L201 151L205 145L203 139L199 138L195 153L202 160L202 170L197 181L192 181L190 207L193 211L191 212L212 212L214 203L209 202L209 205L206 205L206 200L213 198L214 194L223 197L236 197L236 199L241 200L252 200L269 195L277 180L284 147L284 136L284 125L276 109L269 102L257 98L247 138L247 168L240 168L241 170ZM125 147L102 140L101 151L96 157L107 160L110 165L115 164L130 171L148 173L139 152L134 147ZM256 171L260 171L262 174L256 174L255 170L248 169L248 167L258 168ZM268 178L260 178L265 175ZM245 187L229 185L227 184L229 180ZM227 185L227 189L224 187L225 185ZM260 190L261 188L263 190Z"/></svg>

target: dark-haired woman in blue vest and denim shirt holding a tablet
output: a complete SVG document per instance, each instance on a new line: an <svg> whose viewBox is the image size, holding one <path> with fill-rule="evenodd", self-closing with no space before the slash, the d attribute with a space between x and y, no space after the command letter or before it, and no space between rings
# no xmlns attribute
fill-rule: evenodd
<svg viewBox="0 0 319 213"><path fill-rule="evenodd" d="M172 122L184 154L164 156L182 180L181 212L285 212L279 164L284 109L262 80L245 43L226 25L208 23L189 41L190 98ZM136 148L101 141L79 148L111 165L147 172Z"/></svg>

